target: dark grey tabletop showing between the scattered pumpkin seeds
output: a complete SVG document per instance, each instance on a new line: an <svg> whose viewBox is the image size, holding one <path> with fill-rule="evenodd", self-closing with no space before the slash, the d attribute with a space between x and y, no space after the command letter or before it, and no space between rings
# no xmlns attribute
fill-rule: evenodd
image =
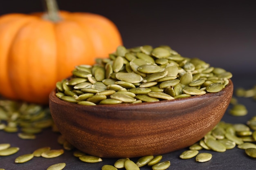
<svg viewBox="0 0 256 170"><path fill-rule="evenodd" d="M252 88L256 85L256 74L244 75L233 74L232 81L234 82L234 90L239 87ZM235 95L234 95L235 96ZM256 101L252 98L237 97L238 103L244 104L248 109L248 114L242 117L234 117L229 115L228 111L222 118L223 121L228 123L242 123L246 124L247 120L256 115ZM17 146L20 150L10 156L0 157L0 168L5 170L46 170L52 164L66 163L65 170L101 170L101 167L105 164L113 165L117 159L104 159L99 163L85 163L73 156L73 150L65 150L64 154L56 158L43 158L34 157L26 163L15 163L16 157L32 153L34 150L50 146L52 149L61 149L63 146L57 143L57 138L60 134L58 132L52 132L51 129L43 130L40 134L36 135L34 140L24 140L17 136L17 133L7 133L3 130L0 131L0 144L10 143L11 146ZM226 152L214 152L208 150L200 150L200 152L209 152L213 155L210 161L199 163L192 159L180 159L179 155L187 148L177 150L168 154L164 154L163 161L171 161L169 170L255 170L256 159L248 157L245 154L245 150L234 148L227 150ZM138 158L131 158L136 161ZM151 168L145 166L141 167L141 170L150 170Z"/></svg>

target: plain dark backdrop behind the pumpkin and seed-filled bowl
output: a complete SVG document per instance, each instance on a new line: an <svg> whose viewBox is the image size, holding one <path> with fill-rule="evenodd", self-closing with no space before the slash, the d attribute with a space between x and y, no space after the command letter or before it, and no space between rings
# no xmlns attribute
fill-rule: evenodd
<svg viewBox="0 0 256 170"><path fill-rule="evenodd" d="M43 11L41 0L2 0L0 15ZM124 46L166 44L236 75L256 73L256 1L58 0L61 10L112 20Z"/></svg>

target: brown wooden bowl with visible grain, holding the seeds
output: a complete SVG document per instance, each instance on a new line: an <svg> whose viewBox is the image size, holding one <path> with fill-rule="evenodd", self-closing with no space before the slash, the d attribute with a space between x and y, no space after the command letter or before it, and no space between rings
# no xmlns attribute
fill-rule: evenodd
<svg viewBox="0 0 256 170"><path fill-rule="evenodd" d="M130 158L160 155L199 141L222 118L233 84L218 93L141 104L81 106L49 95L62 135L90 155Z"/></svg>

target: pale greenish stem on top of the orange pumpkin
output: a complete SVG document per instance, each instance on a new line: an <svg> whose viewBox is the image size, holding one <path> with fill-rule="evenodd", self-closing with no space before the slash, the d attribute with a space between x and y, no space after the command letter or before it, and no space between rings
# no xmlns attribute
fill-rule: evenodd
<svg viewBox="0 0 256 170"><path fill-rule="evenodd" d="M58 4L56 0L43 0L43 2L46 11L44 18L53 22L61 20L61 17L58 15Z"/></svg>

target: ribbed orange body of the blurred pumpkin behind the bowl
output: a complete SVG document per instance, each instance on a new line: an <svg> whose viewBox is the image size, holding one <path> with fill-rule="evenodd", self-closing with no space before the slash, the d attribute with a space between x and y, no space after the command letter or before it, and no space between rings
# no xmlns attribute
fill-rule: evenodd
<svg viewBox="0 0 256 170"><path fill-rule="evenodd" d="M0 95L48 104L57 81L75 66L94 64L122 44L115 24L92 13L60 11L52 22L43 13L0 17Z"/></svg>

